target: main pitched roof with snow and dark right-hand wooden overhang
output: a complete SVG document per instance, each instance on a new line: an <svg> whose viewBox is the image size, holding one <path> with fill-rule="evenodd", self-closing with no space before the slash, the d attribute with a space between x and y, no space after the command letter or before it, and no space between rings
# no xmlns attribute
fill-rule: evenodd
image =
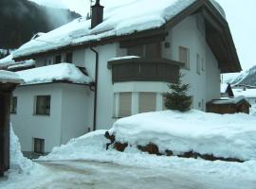
<svg viewBox="0 0 256 189"><path fill-rule="evenodd" d="M25 43L13 53L14 59L26 60L49 51L118 42L152 30L167 32L167 28L200 9L214 31L221 30L219 35L214 33L207 40L222 64L222 73L241 70L225 12L214 0L102 0L101 4L105 9L100 25L91 29L90 20L76 19Z"/></svg>

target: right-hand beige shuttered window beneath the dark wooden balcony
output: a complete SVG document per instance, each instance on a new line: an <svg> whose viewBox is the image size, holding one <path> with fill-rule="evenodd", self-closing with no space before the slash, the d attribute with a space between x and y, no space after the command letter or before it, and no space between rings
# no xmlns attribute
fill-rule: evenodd
<svg viewBox="0 0 256 189"><path fill-rule="evenodd" d="M156 110L156 94L155 93L139 93L138 112L155 112L155 110Z"/></svg>

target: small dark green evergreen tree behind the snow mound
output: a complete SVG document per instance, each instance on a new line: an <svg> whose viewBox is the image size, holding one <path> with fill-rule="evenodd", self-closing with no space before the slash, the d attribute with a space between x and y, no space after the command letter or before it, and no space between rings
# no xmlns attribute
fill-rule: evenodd
<svg viewBox="0 0 256 189"><path fill-rule="evenodd" d="M182 84L181 77L179 75L177 83L168 84L168 87L172 90L171 93L164 93L164 105L168 110L177 110L180 112L186 112L191 110L192 96L188 95L190 84Z"/></svg>

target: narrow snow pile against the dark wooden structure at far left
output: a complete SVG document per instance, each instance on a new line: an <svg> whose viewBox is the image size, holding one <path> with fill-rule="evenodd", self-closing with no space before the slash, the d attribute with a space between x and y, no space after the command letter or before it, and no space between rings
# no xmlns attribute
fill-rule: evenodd
<svg viewBox="0 0 256 189"><path fill-rule="evenodd" d="M10 169L18 170L20 173L29 173L34 163L25 158L21 152L21 146L18 137L14 134L12 127L9 130L10 144L9 144L9 156L10 156Z"/></svg>

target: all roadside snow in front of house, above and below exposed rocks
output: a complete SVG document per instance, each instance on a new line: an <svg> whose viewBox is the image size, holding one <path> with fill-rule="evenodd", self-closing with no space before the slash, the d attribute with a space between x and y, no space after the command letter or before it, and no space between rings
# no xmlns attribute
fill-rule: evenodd
<svg viewBox="0 0 256 189"><path fill-rule="evenodd" d="M235 155L249 160L245 163L155 156L140 152L134 146L128 146L124 152L118 152L115 149L106 151L105 144L108 141L103 136L106 130L98 130L72 139L64 146L53 148L52 152L40 158L40 161L111 162L150 168L177 168L180 171L197 172L203 175L213 174L216 177L241 177L255 180L256 128L251 126L255 121L256 117L242 113L217 115L197 111L150 112L120 119L110 130L117 134L120 141L129 141L131 144L147 144L152 141L163 148L172 146L177 151L197 149L198 152L204 153ZM154 124L156 124L155 127Z"/></svg>

